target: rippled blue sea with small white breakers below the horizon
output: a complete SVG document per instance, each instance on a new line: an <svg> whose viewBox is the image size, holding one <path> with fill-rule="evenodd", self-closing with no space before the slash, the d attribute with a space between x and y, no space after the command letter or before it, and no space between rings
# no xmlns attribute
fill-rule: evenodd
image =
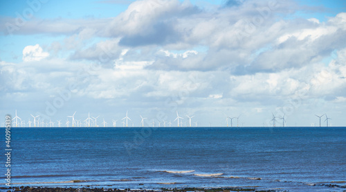
<svg viewBox="0 0 346 192"><path fill-rule="evenodd" d="M345 127L12 128L10 141L11 186L346 191Z"/></svg>

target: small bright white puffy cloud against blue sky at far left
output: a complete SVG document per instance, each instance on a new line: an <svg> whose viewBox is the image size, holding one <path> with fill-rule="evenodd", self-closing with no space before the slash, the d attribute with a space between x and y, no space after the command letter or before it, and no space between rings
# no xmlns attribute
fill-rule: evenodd
<svg viewBox="0 0 346 192"><path fill-rule="evenodd" d="M39 44L35 44L35 46L28 45L23 49L23 61L39 61L49 56L48 52L44 52Z"/></svg>

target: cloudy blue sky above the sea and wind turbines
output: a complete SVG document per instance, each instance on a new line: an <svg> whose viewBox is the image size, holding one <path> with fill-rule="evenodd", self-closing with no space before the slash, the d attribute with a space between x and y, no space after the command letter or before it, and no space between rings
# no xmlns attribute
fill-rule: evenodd
<svg viewBox="0 0 346 192"><path fill-rule="evenodd" d="M346 125L345 1L0 1L0 24L0 123Z"/></svg>

